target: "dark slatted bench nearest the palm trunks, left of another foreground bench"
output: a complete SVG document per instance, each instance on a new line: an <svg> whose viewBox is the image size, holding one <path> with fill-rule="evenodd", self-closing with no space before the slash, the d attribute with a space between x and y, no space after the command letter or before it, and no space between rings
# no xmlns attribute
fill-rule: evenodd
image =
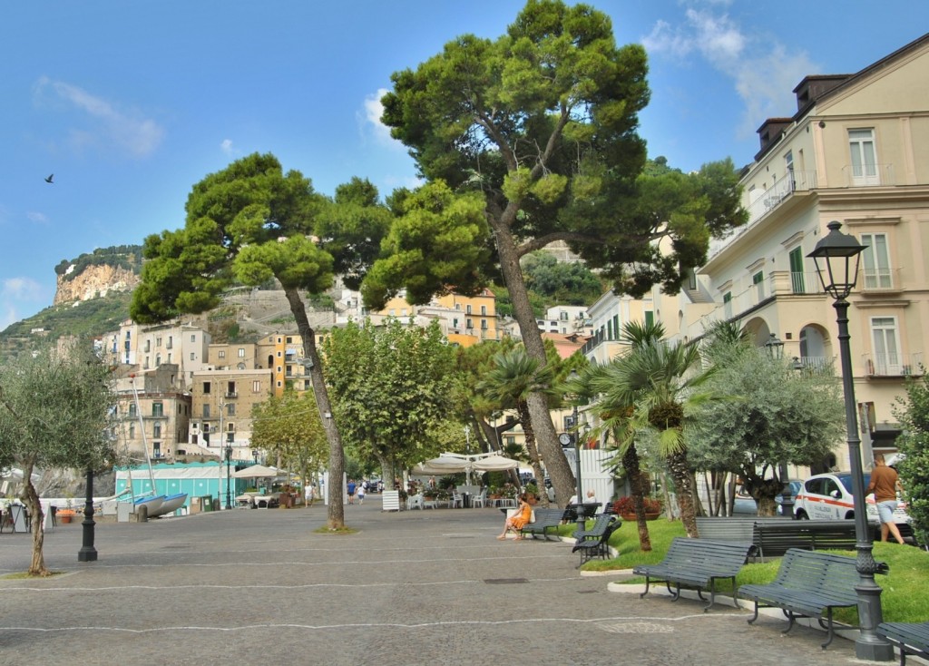
<svg viewBox="0 0 929 666"><path fill-rule="evenodd" d="M736 575L751 551L751 542L714 542L709 539L674 537L661 564L633 568L636 576L645 576L645 592L639 594L639 598L648 594L651 581L664 581L674 601L680 598L682 586L696 589L703 601L706 600L703 599L702 591L709 588L710 601L703 608L706 612L715 602L716 580L729 579L735 588L735 601L735 593L738 592ZM672 583L674 590L671 589Z"/></svg>

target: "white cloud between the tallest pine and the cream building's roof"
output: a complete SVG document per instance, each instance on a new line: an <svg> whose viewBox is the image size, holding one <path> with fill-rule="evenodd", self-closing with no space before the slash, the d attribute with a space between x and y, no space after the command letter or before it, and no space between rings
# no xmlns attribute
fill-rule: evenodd
<svg viewBox="0 0 929 666"><path fill-rule="evenodd" d="M770 38L745 33L728 14L707 9L687 8L684 22L677 26L657 22L642 44L650 55L699 57L730 78L745 106L737 129L740 137L751 136L765 118L792 113L793 86L819 69L805 52L788 54Z"/></svg>

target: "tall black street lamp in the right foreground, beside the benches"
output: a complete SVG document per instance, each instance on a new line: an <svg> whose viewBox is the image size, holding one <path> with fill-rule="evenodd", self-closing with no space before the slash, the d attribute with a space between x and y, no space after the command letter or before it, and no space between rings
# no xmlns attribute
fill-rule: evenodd
<svg viewBox="0 0 929 666"><path fill-rule="evenodd" d="M852 468L852 494L855 503L855 549L858 584L858 622L860 631L855 641L858 659L889 661L894 659L894 648L874 630L883 621L881 609L881 587L874 581L874 574L881 565L872 555L871 534L865 504L865 481L861 464L861 440L858 438L857 410L855 408L855 385L852 375L852 354L848 341L848 301L858 279L858 262L862 245L853 236L842 233L842 225L832 221L829 233L816 244L812 257L816 264L823 291L835 301L836 321L839 324L839 352L842 361L842 388L845 397L845 430L848 441L848 458ZM822 265L820 265L820 260Z"/></svg>

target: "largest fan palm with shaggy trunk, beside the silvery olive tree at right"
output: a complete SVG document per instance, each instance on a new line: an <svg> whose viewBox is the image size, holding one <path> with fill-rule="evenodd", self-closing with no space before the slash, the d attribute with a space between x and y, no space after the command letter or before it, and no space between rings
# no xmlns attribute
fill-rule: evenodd
<svg viewBox="0 0 929 666"><path fill-rule="evenodd" d="M713 398L699 390L713 375L713 369L700 368L700 349L693 344L648 339L611 363L610 370L614 384L605 386L604 399L625 407L628 413L621 447L630 445L632 438L644 430L658 434L659 451L674 478L681 520L687 536L696 537L686 431L700 405Z"/></svg>

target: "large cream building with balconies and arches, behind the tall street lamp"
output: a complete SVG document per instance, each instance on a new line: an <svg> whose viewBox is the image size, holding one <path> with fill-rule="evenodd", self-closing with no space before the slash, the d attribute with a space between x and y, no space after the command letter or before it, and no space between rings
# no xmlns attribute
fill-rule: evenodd
<svg viewBox="0 0 929 666"><path fill-rule="evenodd" d="M929 35L856 74L800 82L797 111L758 130L760 150L741 178L749 224L714 244L677 312L661 318L676 320L685 339L713 321L739 321L758 346L774 333L787 359L838 367L835 310L806 255L841 222L868 246L849 297L866 464L871 443L893 449L895 399L922 372L929 333L926 81ZM831 464L848 469L844 446L823 466Z"/></svg>

